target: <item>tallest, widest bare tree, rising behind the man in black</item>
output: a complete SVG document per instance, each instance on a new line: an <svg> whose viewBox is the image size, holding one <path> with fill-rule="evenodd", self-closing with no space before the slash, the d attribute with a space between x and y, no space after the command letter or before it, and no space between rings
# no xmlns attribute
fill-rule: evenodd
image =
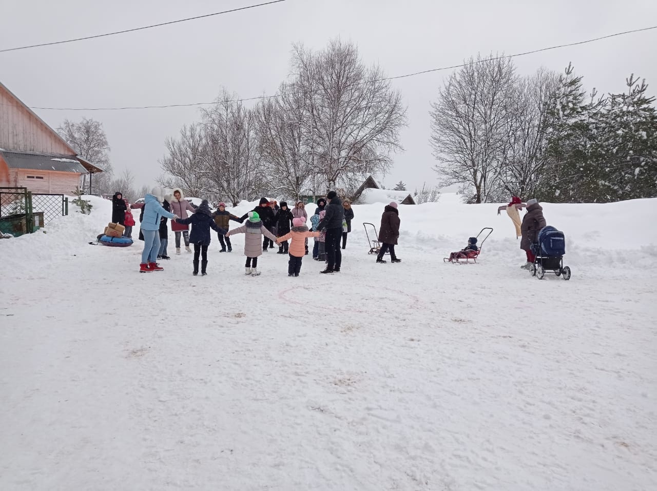
<svg viewBox="0 0 657 491"><path fill-rule="evenodd" d="M403 150L406 110L382 70L365 66L355 45L339 39L319 53L294 47L292 69L290 87L306 100L313 165L328 187L344 174L390 169L391 153Z"/></svg>

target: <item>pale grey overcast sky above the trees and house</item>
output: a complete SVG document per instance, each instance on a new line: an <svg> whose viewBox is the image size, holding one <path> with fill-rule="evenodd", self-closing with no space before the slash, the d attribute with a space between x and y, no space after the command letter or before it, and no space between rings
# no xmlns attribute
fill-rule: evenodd
<svg viewBox="0 0 657 491"><path fill-rule="evenodd" d="M262 1L262 0L260 0ZM2 0L0 49L83 37L260 3L258 0ZM0 53L0 81L28 106L97 108L212 102L221 87L240 97L275 93L289 72L292 43L321 49L334 37L389 76L459 64L478 52L520 53L657 25L657 1L443 2L287 0L282 3L125 33ZM657 30L514 58L519 74L569 62L587 89L622 91L631 73L657 94ZM450 71L393 81L408 106L392 187L436 184L428 144L430 102ZM53 128L65 118L102 122L116 173L153 184L164 139L200 119L196 108L124 111L35 109Z"/></svg>

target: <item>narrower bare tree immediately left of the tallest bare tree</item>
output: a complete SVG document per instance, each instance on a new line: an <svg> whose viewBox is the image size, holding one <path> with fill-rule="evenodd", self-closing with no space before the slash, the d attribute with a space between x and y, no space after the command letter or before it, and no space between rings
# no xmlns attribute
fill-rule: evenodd
<svg viewBox="0 0 657 491"><path fill-rule="evenodd" d="M271 192L298 200L315 173L309 95L295 92L286 83L281 84L278 95L256 109L259 151Z"/></svg>

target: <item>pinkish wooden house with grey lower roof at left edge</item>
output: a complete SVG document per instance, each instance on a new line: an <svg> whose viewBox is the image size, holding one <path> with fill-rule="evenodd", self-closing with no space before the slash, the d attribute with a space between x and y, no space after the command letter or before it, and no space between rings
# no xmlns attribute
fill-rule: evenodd
<svg viewBox="0 0 657 491"><path fill-rule="evenodd" d="M100 172L0 83L0 187L71 194L81 174Z"/></svg>

